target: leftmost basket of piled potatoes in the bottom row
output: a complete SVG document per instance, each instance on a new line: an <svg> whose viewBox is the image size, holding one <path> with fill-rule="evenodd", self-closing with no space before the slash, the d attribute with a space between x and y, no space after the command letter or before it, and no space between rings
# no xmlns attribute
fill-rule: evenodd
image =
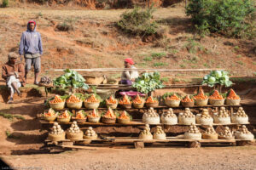
<svg viewBox="0 0 256 170"><path fill-rule="evenodd" d="M57 122L55 122L48 137L51 141L60 141L65 139L65 135L66 133L61 128L61 126Z"/></svg>

